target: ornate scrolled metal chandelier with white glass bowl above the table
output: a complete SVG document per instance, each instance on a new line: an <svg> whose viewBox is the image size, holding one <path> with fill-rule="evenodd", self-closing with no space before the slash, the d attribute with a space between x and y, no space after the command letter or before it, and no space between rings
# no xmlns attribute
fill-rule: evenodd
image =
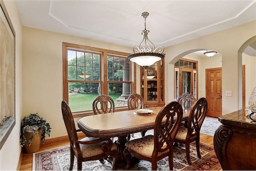
<svg viewBox="0 0 256 171"><path fill-rule="evenodd" d="M134 53L127 57L128 60L142 66L145 70L148 66L151 66L155 62L164 58L164 54L162 54L164 52L164 48L162 46L155 48L154 44L148 39L149 30L146 29L146 18L148 15L148 12L142 12L141 16L145 19L145 28L142 30L142 34L144 35L143 40L139 47L134 46Z"/></svg>

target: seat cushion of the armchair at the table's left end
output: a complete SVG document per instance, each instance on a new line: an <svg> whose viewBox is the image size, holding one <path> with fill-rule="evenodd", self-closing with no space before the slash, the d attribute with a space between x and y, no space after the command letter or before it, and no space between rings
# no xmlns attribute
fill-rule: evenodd
<svg viewBox="0 0 256 171"><path fill-rule="evenodd" d="M96 140L96 139L98 139L98 138L85 137L85 138L81 139L80 141L92 141L92 140ZM100 143L94 143L94 144L88 144L88 145L87 144L80 144L80 149L82 151L82 156L83 157L91 157L91 156L94 156L94 155L104 153L102 148L101 148L101 145L104 142L108 143L108 141L102 141ZM116 148L117 148L116 144L113 143L111 150L114 150Z"/></svg>

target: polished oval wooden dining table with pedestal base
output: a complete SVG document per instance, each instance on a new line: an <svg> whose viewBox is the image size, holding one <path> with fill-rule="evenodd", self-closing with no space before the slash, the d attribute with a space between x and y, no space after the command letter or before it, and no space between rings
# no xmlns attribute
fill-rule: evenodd
<svg viewBox="0 0 256 171"><path fill-rule="evenodd" d="M78 127L90 137L118 137L114 142L118 146L119 154L116 168L124 168L126 160L123 151L125 143L129 140L128 135L154 129L156 116L161 108L147 108L153 111L151 115L137 115L135 110L127 110L85 116L78 120ZM189 110L183 110L182 121L188 120L189 112Z"/></svg>

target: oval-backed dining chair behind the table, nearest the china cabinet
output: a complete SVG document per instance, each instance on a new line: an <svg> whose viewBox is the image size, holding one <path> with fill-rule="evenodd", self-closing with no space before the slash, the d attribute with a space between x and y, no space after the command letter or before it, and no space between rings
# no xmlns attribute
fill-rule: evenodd
<svg viewBox="0 0 256 171"><path fill-rule="evenodd" d="M129 110L143 109L144 99L140 94L132 93L127 99L127 106ZM145 136L146 131L140 132L141 136ZM131 136L133 137L133 133Z"/></svg>

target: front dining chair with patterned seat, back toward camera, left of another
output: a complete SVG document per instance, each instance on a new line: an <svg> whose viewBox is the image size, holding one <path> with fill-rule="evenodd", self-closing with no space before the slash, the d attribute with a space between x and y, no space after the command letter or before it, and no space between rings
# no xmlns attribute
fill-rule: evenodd
<svg viewBox="0 0 256 171"><path fill-rule="evenodd" d="M124 157L127 165L124 169L130 169L132 153L138 159L150 161L152 163L152 170L157 169L157 161L168 156L169 169L173 170L173 142L182 116L182 106L176 101L172 101L162 107L156 116L154 124L155 136L146 135L145 137L133 139L125 143Z"/></svg>

